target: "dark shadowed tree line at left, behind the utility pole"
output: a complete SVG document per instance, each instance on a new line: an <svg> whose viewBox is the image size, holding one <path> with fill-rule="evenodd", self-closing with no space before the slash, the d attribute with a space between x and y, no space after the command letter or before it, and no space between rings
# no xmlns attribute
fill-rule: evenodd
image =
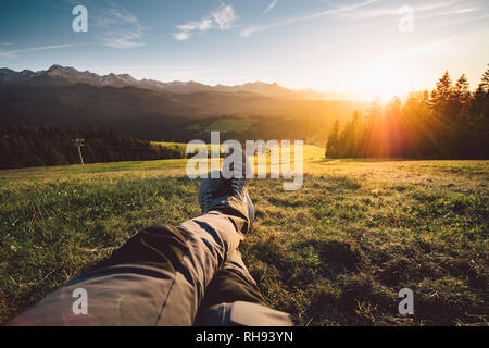
<svg viewBox="0 0 489 348"><path fill-rule="evenodd" d="M153 145L110 128L63 130L54 126L0 126L0 169L77 164L72 139L85 139L85 163L185 158L185 147Z"/></svg>

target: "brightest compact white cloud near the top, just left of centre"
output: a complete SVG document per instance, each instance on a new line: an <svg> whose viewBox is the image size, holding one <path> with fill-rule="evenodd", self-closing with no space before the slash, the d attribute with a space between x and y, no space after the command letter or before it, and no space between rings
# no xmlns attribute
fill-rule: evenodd
<svg viewBox="0 0 489 348"><path fill-rule="evenodd" d="M175 40L184 41L189 39L196 33L204 33L210 29L230 29L237 18L233 5L222 3L217 10L201 21L188 22L175 26L178 32L172 35Z"/></svg>

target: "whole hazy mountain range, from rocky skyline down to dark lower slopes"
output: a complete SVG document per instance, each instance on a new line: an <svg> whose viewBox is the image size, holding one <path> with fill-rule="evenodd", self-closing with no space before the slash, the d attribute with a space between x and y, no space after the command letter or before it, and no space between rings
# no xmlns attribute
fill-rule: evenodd
<svg viewBox="0 0 489 348"><path fill-rule="evenodd" d="M324 140L336 119L367 104L317 100L277 84L209 86L137 80L52 65L46 71L0 69L0 126L110 127L150 140L204 139L225 130L234 139Z"/></svg>

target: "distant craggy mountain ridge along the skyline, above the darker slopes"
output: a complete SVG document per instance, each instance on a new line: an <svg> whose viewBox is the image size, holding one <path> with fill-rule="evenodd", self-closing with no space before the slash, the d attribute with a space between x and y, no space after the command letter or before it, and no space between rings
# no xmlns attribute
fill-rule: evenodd
<svg viewBox="0 0 489 348"><path fill-rule="evenodd" d="M136 79L129 74L98 75L89 71L80 72L72 66L52 65L46 71L33 72L23 70L15 72L3 67L0 69L0 85L49 85L67 86L86 84L95 87L137 87L171 94L190 95L196 92L252 92L272 98L300 98L300 99L346 99L344 95L338 92L321 92L313 89L292 90L279 86L277 83L267 84L263 82L247 83L236 86L216 85L210 86L193 80L163 83L154 79Z"/></svg>

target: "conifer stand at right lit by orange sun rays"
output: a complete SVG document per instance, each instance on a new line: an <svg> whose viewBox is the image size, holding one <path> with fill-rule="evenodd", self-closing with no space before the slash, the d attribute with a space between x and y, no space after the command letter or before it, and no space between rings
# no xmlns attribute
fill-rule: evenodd
<svg viewBox="0 0 489 348"><path fill-rule="evenodd" d="M463 74L446 72L431 91L412 92L401 102L373 102L354 112L342 129L336 121L327 158L488 159L489 69L475 91Z"/></svg>

